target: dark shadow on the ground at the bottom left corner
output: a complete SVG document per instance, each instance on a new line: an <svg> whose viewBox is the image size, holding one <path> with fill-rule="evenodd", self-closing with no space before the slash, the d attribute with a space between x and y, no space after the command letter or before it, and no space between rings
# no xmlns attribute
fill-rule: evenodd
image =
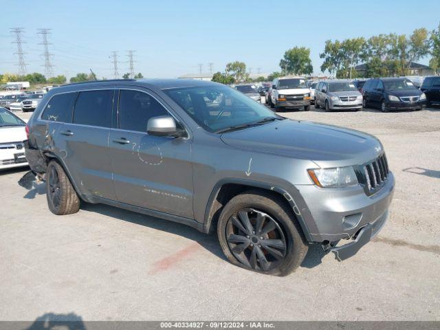
<svg viewBox="0 0 440 330"><path fill-rule="evenodd" d="M83 318L75 313L54 314L46 313L34 320L32 325L25 330L51 330L51 329L69 329L69 330L85 330Z"/></svg>

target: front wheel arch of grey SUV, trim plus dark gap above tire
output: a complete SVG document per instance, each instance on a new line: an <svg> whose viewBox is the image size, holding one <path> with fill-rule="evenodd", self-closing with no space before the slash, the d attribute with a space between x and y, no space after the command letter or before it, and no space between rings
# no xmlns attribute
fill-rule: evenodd
<svg viewBox="0 0 440 330"><path fill-rule="evenodd" d="M265 193L269 192L274 197L281 198L286 206L294 213L298 223L300 224L301 230L303 231L304 237L307 241L312 241L310 232L307 228L305 220L300 212L300 208L294 197L292 197L287 190L279 186L273 186L261 181L252 181L248 179L222 179L214 186L208 203L206 205L205 216L203 221L203 231L207 233L212 233L216 230L217 221L219 214L223 206L230 201L236 195L241 194L247 190L261 190Z"/></svg>

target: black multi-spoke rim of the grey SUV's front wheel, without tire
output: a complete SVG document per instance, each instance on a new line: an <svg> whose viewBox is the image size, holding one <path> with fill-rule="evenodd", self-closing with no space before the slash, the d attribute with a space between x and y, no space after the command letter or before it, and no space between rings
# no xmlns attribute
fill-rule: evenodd
<svg viewBox="0 0 440 330"><path fill-rule="evenodd" d="M228 219L225 236L235 258L254 270L270 271L285 259L287 243L283 230L265 212L239 210Z"/></svg>

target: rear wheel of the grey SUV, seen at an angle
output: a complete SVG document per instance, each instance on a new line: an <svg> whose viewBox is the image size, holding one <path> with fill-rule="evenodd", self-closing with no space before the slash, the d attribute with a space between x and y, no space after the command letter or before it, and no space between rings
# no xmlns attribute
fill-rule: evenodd
<svg viewBox="0 0 440 330"><path fill-rule="evenodd" d="M56 215L72 214L80 209L80 199L63 167L52 160L46 171L47 206Z"/></svg>

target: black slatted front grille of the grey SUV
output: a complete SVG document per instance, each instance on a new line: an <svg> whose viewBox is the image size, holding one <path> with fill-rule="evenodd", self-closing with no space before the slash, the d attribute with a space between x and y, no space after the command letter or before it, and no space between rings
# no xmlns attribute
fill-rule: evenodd
<svg viewBox="0 0 440 330"><path fill-rule="evenodd" d="M364 180L362 181L364 181L366 193L367 195L373 195L373 193L382 188L390 172L386 155L382 154L362 167L362 174L364 175Z"/></svg>

